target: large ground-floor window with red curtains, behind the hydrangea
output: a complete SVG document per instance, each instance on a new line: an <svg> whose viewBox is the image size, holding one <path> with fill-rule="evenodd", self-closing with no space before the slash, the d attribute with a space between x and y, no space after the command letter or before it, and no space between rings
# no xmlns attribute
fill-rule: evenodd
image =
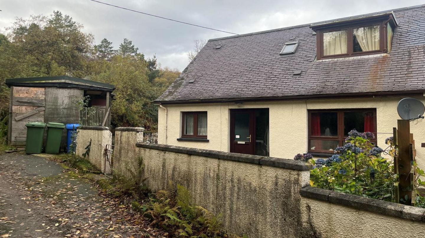
<svg viewBox="0 0 425 238"><path fill-rule="evenodd" d="M375 133L376 110L311 110L309 111L309 152L332 152L345 144L350 130ZM372 140L376 143L376 139Z"/></svg>

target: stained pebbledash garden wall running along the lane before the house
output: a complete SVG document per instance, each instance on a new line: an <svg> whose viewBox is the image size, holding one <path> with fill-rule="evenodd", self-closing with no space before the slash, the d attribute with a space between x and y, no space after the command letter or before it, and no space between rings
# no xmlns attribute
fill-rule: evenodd
<svg viewBox="0 0 425 238"><path fill-rule="evenodd" d="M222 214L229 232L250 238L398 238L425 232L425 209L309 187L310 164L144 143L142 130L118 128L114 171L127 174L142 158L150 189L165 189L168 181L184 185L197 205ZM93 145L102 134L107 133L85 129L78 140L93 137ZM77 153L85 146L77 144ZM95 156L102 155L91 153L90 160L99 161Z"/></svg>

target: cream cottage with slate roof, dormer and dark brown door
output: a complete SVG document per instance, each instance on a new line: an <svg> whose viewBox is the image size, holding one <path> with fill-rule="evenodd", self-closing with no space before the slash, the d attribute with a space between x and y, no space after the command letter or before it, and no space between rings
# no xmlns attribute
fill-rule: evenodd
<svg viewBox="0 0 425 238"><path fill-rule="evenodd" d="M385 148L399 100L425 101L424 66L425 5L210 39L156 100L158 143L326 157L357 129Z"/></svg>

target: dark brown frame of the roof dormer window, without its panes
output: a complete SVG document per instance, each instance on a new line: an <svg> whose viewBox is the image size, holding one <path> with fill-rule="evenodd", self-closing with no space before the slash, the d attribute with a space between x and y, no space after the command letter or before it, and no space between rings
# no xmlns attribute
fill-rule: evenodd
<svg viewBox="0 0 425 238"><path fill-rule="evenodd" d="M388 24L390 22L390 24ZM379 50L370 50L364 52L354 52L353 46L353 30L362 27L379 26L380 42ZM397 22L394 19L393 14L385 14L381 16L372 16L370 18L363 17L360 19L348 19L346 21L336 21L323 23L318 25L312 25L311 28L316 32L316 50L317 60L331 59L331 58L347 58L360 55L375 55L380 53L388 53L388 39L387 39L387 28L392 29L397 26ZM336 55L324 55L323 46L323 34L335 31L347 31L347 53L336 54Z"/></svg>

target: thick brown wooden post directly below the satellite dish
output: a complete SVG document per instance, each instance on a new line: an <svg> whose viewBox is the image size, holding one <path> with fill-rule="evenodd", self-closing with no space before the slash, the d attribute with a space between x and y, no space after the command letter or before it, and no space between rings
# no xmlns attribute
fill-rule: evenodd
<svg viewBox="0 0 425 238"><path fill-rule="evenodd" d="M404 204L410 205L412 199L411 189L411 145L410 121L397 120L397 147L398 147L398 172L399 172L399 198L407 198ZM406 197L407 195L407 197ZM399 202L399 201L397 201Z"/></svg>

